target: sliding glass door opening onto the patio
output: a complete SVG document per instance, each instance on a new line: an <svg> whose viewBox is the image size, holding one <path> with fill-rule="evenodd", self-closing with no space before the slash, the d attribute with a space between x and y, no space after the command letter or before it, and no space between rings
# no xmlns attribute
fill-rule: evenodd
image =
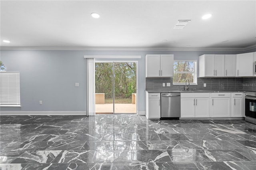
<svg viewBox="0 0 256 170"><path fill-rule="evenodd" d="M137 62L96 62L95 93L96 114L137 113Z"/></svg>

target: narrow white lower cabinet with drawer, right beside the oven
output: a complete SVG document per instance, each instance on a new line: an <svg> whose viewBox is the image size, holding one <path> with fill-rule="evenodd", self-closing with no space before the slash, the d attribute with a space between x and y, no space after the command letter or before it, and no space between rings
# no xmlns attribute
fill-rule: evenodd
<svg viewBox="0 0 256 170"><path fill-rule="evenodd" d="M244 117L244 93L232 93L231 117Z"/></svg>

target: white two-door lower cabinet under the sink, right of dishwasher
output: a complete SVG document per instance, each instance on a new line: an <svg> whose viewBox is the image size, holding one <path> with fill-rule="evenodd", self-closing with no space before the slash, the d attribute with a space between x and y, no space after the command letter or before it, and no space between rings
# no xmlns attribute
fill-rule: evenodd
<svg viewBox="0 0 256 170"><path fill-rule="evenodd" d="M210 117L210 93L181 93L180 117Z"/></svg>

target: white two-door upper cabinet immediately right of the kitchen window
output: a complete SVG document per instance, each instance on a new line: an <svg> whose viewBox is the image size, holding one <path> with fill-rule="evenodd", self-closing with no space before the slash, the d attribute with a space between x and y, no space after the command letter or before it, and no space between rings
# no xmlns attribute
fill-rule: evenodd
<svg viewBox="0 0 256 170"><path fill-rule="evenodd" d="M199 77L224 77L225 55L199 56Z"/></svg>

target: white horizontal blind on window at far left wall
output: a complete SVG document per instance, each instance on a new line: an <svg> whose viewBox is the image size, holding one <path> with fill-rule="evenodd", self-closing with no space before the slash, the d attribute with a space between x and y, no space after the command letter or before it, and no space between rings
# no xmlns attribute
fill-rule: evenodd
<svg viewBox="0 0 256 170"><path fill-rule="evenodd" d="M0 72L0 106L20 106L19 72Z"/></svg>

